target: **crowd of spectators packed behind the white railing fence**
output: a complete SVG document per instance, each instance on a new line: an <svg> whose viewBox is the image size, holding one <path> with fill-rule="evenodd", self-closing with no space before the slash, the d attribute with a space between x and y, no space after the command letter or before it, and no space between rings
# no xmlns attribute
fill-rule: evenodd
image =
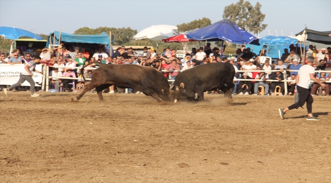
<svg viewBox="0 0 331 183"><path fill-rule="evenodd" d="M251 52L250 48L245 48L244 45L237 49L236 56L223 57L220 56L221 50L224 52L226 46L221 49L215 47L211 49L210 43L207 43L205 47L199 49L192 48L190 53L186 53L183 58L176 56L176 49L164 49L163 52L157 53L153 48L145 47L142 54L136 54L132 48L126 49L124 46L114 50L113 54L107 52L104 45L99 46L86 46L76 44L75 46L67 46L64 43L55 49L38 49L36 55L42 58L41 64L50 67L49 76L53 77L73 77L77 75L79 69L71 69L72 67L82 67L90 64L90 62L97 62L102 64L133 64L143 67L152 67L160 72L165 77L174 80L179 72L196 67L198 65L209 63L229 63L233 65L236 70L235 78L237 79L261 79L262 81L234 81L235 89L233 95L273 95L276 86L280 86L279 95L293 95L295 93L295 82L287 82L288 91L284 91L285 86L283 71L286 70L287 80L295 80L297 72L292 70L299 70L302 66L301 60L305 57L314 56L315 63L313 67L318 70L331 70L330 53L331 48L322 48L319 51L316 46L310 45L306 51L306 55L302 56L300 52L296 53L294 50L290 52L288 49L284 50L284 54L281 59L276 63L271 63L272 60L266 58L263 64L260 63L260 56L267 56L265 50L261 50L259 55ZM300 59L301 58L301 59ZM302 59L304 58L304 59ZM32 56L27 53L23 55L21 50L16 49L8 57L1 53L0 64L26 64L32 60ZM97 63L92 64L90 67L98 68ZM67 67L67 68L55 68L55 67ZM254 70L256 72L237 72L238 70ZM278 72L271 72L271 70L279 70ZM93 70L85 69L85 78L91 78ZM81 77L81 76L80 76ZM328 81L328 73L316 73L316 78L320 81ZM266 80L278 80L269 82ZM85 87L88 81L84 82L81 79L73 81L71 79L58 79L51 78L51 88L58 89L63 87L65 92L80 92ZM75 86L75 87L74 87ZM265 88L264 94L260 94L259 86ZM323 88L322 94L329 96L329 84ZM75 88L75 89L74 89ZM311 94L316 95L318 85L313 84ZM115 88L116 90L116 88ZM90 91L93 92L93 91ZM117 92L123 92L118 89ZM129 90L129 93L134 92ZM138 92L139 93L139 92ZM218 91L209 92L208 94L218 94Z"/></svg>

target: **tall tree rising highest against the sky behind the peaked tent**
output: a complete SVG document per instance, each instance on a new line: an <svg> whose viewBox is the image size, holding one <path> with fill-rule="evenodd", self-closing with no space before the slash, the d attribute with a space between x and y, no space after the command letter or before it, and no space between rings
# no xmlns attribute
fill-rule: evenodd
<svg viewBox="0 0 331 183"><path fill-rule="evenodd" d="M261 7L259 2L253 7L248 1L239 0L236 4L232 3L224 8L223 18L235 22L246 31L257 34L267 27L267 24L262 24L265 14L261 13Z"/></svg>

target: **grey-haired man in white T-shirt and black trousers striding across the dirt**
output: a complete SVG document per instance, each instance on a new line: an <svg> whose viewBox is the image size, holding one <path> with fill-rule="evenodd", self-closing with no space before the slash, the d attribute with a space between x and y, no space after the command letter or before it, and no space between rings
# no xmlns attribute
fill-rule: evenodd
<svg viewBox="0 0 331 183"><path fill-rule="evenodd" d="M313 96L310 95L310 82L313 80L315 83L318 83L322 87L325 87L324 83L321 83L314 77L315 69L312 67L314 63L314 57L307 57L307 65L300 67L298 74L295 77L296 89L299 94L299 101L287 108L278 109L281 115L281 118L284 119L284 114L288 110L292 110L301 106L304 106L307 102L308 117L307 120L319 120L319 118L313 116L312 114L312 103L314 101Z"/></svg>

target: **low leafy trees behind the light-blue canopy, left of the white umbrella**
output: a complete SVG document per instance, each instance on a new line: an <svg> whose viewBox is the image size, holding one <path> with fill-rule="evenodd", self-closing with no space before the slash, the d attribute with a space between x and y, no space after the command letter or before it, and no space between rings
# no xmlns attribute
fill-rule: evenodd
<svg viewBox="0 0 331 183"><path fill-rule="evenodd" d="M81 35L99 35L105 32L109 35L109 31L112 31L113 45L123 45L132 40L133 36L137 34L137 30L131 29L130 27L115 28L115 27L98 27L89 28L82 27L77 29L73 34Z"/></svg>

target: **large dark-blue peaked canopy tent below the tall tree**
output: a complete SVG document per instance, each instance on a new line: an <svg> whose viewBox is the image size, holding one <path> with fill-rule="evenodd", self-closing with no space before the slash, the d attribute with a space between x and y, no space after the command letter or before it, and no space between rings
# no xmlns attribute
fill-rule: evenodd
<svg viewBox="0 0 331 183"><path fill-rule="evenodd" d="M188 33L186 37L197 41L228 41L234 44L260 45L259 39L228 19L220 20Z"/></svg>

